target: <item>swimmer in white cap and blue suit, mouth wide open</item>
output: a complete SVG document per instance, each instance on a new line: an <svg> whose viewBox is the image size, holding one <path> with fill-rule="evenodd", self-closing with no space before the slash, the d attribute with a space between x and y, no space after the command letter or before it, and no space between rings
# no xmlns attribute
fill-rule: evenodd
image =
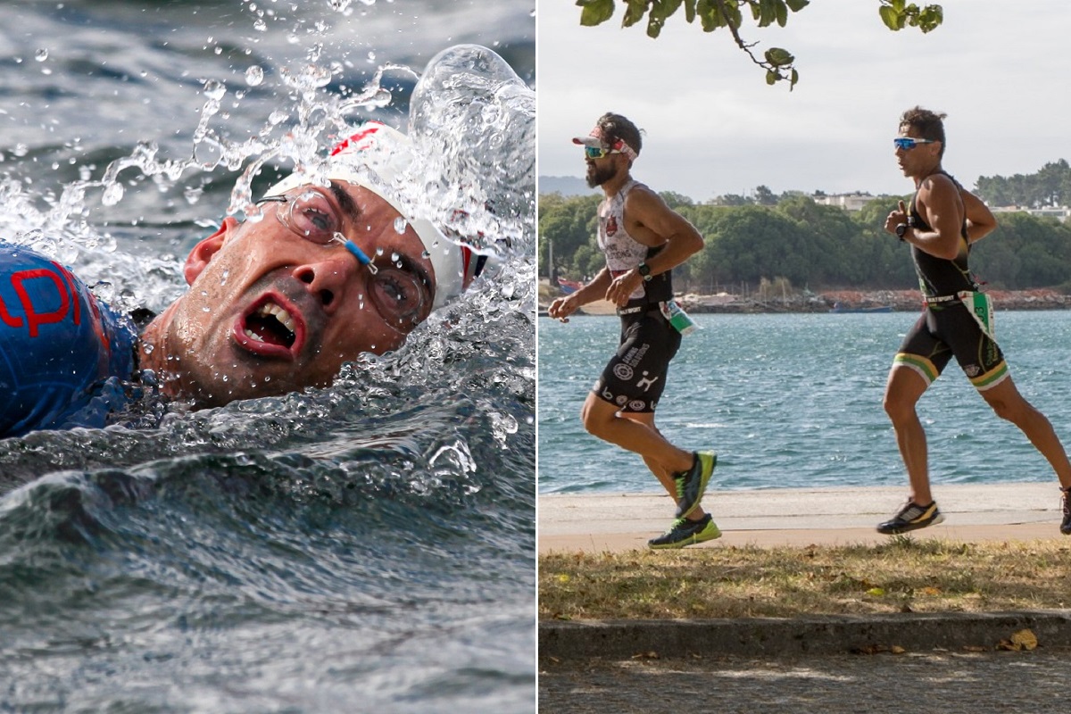
<svg viewBox="0 0 1071 714"><path fill-rule="evenodd" d="M487 260L405 215L390 183L411 158L405 134L364 124L315 180L269 188L257 219L224 218L186 258L188 290L140 321L0 243L0 437L104 426L140 378L216 407L327 386L361 353L398 348Z"/></svg>

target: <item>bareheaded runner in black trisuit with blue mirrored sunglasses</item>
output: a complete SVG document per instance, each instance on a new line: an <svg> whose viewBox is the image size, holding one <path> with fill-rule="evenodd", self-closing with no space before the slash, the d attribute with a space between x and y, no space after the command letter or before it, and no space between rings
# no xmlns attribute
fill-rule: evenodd
<svg viewBox="0 0 1071 714"><path fill-rule="evenodd" d="M1062 488L1060 532L1071 534L1071 464L1052 424L1015 388L995 341L990 300L975 283L967 257L971 244L996 228L996 219L941 168L944 119L921 107L909 109L893 139L896 162L916 193L908 206L901 201L888 215L885 230L910 245L923 307L893 360L885 392L909 493L877 530L904 533L945 519L930 489L926 436L916 404L955 358L997 415L1022 429L1056 471Z"/></svg>

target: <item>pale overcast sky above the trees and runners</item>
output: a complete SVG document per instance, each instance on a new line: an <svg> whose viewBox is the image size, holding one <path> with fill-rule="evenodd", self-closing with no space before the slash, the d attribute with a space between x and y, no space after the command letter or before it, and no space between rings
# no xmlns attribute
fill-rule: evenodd
<svg viewBox="0 0 1071 714"><path fill-rule="evenodd" d="M620 6L585 28L572 0L541 0L539 174L583 177L570 139L607 110L646 131L633 176L698 201L758 185L906 194L891 139L917 104L948 113L945 168L968 188L1071 158L1071 2L939 4L945 22L929 34L889 31L877 0L812 0L785 28L748 19L758 55L796 55L789 92L767 86L725 30L705 33L682 14L651 40L621 28Z"/></svg>

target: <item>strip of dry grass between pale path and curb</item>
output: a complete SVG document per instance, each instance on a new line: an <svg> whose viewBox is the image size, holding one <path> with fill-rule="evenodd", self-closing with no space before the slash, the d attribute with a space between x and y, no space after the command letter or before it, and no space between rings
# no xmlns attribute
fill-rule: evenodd
<svg viewBox="0 0 1071 714"><path fill-rule="evenodd" d="M1064 541L725 547L540 558L540 618L786 618L1071 607Z"/></svg>

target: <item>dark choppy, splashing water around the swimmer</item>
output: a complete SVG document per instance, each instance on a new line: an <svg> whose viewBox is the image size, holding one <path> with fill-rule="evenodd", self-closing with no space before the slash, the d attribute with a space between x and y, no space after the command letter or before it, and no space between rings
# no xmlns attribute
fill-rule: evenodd
<svg viewBox="0 0 1071 714"><path fill-rule="evenodd" d="M510 176L425 186L493 203L474 227L512 248L397 352L328 390L0 441L0 712L534 711L532 11L0 6L0 232L120 307L182 291L181 258L257 193L248 166L268 185L347 124L404 125L440 50L519 76L461 101L491 148L442 135ZM434 109L465 88L438 90L425 118L461 130L456 96Z"/></svg>

